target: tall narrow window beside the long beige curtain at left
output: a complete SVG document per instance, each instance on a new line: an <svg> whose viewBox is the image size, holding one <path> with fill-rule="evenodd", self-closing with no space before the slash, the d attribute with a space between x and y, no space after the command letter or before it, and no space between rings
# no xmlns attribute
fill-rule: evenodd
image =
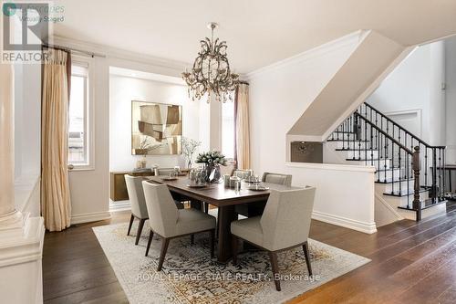
<svg viewBox="0 0 456 304"><path fill-rule="evenodd" d="M88 63L74 61L68 109L68 164L76 169L88 167L91 162L88 88Z"/></svg>

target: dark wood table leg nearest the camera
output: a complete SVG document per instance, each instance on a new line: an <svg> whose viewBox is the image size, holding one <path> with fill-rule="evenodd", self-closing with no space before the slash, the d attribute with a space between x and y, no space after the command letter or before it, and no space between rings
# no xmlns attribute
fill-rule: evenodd
<svg viewBox="0 0 456 304"><path fill-rule="evenodd" d="M236 220L236 215L234 205L220 206L218 211L219 244L217 260L224 263L232 257L231 222Z"/></svg>

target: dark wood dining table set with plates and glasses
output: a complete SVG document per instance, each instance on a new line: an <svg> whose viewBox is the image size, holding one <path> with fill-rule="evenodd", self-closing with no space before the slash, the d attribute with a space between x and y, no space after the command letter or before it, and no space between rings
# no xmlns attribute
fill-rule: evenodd
<svg viewBox="0 0 456 304"><path fill-rule="evenodd" d="M237 214L234 212L236 204L255 204L265 202L269 197L270 191L254 191L247 189L243 183L240 191L235 191L232 188L225 188L223 183L209 183L204 188L191 188L190 179L187 176L178 177L174 181L166 181L165 176L154 176L150 178L152 183L163 183L168 185L171 194L178 194L189 198L192 203L198 204L205 202L212 204L218 208L218 246L217 260L226 262L232 257L232 236L231 222L237 220ZM275 183L261 183L262 185L275 190L296 189Z"/></svg>

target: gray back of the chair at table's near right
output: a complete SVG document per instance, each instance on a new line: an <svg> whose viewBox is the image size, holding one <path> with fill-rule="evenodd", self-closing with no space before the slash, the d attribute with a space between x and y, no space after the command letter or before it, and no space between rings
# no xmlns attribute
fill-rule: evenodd
<svg viewBox="0 0 456 304"><path fill-rule="evenodd" d="M315 187L271 190L260 220L266 249L285 249L306 242L315 192Z"/></svg>

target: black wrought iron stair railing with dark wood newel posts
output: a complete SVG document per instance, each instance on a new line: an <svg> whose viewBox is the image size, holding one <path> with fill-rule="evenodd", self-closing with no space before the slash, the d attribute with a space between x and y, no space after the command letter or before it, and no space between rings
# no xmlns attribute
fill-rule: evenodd
<svg viewBox="0 0 456 304"><path fill-rule="evenodd" d="M431 146L368 103L344 121L329 140L342 142L349 160L375 165L378 183L389 184L389 195L407 196L407 209L417 212L444 201L445 147ZM429 192L428 200L420 194Z"/></svg>

